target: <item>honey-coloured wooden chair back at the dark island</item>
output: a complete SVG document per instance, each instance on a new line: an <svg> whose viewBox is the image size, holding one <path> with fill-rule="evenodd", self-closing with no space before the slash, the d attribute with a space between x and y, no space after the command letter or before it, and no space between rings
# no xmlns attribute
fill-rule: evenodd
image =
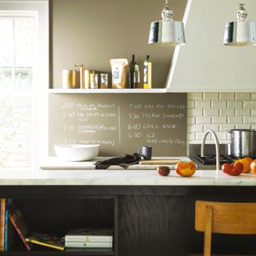
<svg viewBox="0 0 256 256"><path fill-rule="evenodd" d="M195 202L195 230L204 232L203 255L211 255L211 234L256 234L256 202Z"/></svg>

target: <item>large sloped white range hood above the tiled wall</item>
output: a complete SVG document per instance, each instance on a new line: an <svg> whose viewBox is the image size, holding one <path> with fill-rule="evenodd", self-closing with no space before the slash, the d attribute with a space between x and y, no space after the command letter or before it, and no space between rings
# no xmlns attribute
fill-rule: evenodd
<svg viewBox="0 0 256 256"><path fill-rule="evenodd" d="M177 46L166 81L171 92L255 92L256 46L224 46L226 22L235 21L238 0L188 0L186 45ZM245 0L256 20L256 0Z"/></svg>

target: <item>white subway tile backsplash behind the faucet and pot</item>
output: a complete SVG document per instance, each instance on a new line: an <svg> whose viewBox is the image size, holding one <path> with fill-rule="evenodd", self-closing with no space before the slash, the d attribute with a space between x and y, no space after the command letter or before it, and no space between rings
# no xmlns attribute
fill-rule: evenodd
<svg viewBox="0 0 256 256"><path fill-rule="evenodd" d="M256 93L191 93L187 106L188 142L201 143L211 129L220 142L230 143L225 129L256 129ZM214 142L210 134L206 142Z"/></svg>

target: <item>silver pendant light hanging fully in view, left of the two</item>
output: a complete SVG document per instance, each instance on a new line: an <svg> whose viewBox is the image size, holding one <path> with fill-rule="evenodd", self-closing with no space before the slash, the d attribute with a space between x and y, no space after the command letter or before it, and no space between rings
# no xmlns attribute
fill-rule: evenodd
<svg viewBox="0 0 256 256"><path fill-rule="evenodd" d="M170 4L166 0L166 5L162 10L162 21L150 24L149 44L180 46L186 43L183 22L174 21L173 16L174 13L170 10Z"/></svg>

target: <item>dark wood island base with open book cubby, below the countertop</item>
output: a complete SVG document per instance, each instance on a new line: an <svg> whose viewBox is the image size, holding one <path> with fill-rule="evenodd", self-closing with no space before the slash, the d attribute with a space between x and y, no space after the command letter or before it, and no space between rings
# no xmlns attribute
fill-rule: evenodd
<svg viewBox="0 0 256 256"><path fill-rule="evenodd" d="M70 227L111 227L113 250L27 252L14 232L11 250L0 255L186 256L202 253L194 230L194 202L256 202L254 186L0 186L14 198L31 230L63 236ZM232 214L232 213L230 213ZM256 254L254 236L213 236L213 252Z"/></svg>

